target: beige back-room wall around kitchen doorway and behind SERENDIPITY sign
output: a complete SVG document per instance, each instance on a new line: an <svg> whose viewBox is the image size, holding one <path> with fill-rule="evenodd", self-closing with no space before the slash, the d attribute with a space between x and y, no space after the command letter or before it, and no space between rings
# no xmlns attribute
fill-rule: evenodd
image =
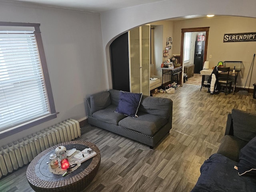
<svg viewBox="0 0 256 192"><path fill-rule="evenodd" d="M254 53L256 53L256 42L223 42L224 34L256 32L256 18L223 16L204 19L194 19L187 21L174 22L174 37L181 41L180 31L182 28L208 27L208 50L207 60L210 61L209 67L212 68L222 61L242 61L242 70L239 74L238 87L244 87L246 78L252 63ZM180 44L174 47L174 52L180 52ZM212 58L209 56L212 55ZM252 74L256 74L256 67ZM254 88L256 76L252 76L249 84Z"/></svg>

